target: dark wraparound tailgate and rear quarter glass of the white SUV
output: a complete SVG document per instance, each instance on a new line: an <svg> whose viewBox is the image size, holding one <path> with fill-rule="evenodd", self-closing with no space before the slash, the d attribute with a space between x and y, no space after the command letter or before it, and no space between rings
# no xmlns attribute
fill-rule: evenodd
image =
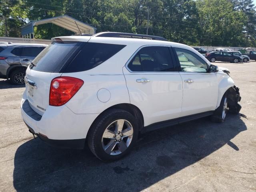
<svg viewBox="0 0 256 192"><path fill-rule="evenodd" d="M88 43L88 42L52 42L35 59L33 70L42 72L80 72L92 69L125 45Z"/></svg>

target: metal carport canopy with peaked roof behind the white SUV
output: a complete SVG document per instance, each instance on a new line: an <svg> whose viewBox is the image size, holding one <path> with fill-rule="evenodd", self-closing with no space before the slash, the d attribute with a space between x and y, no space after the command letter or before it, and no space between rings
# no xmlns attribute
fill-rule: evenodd
<svg viewBox="0 0 256 192"><path fill-rule="evenodd" d="M38 20L38 21L32 21L28 24L21 27L21 34L28 35L28 34L34 34L34 26L42 25L46 23L53 23L56 24L62 28L65 28L67 30L70 30L74 32L75 34L95 34L96 28L92 27L88 24L85 24L81 21L78 21L68 15Z"/></svg>

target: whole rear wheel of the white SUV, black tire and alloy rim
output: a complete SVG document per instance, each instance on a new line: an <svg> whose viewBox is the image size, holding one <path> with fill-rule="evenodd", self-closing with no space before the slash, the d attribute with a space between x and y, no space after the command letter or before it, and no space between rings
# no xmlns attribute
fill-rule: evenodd
<svg viewBox="0 0 256 192"><path fill-rule="evenodd" d="M132 114L110 109L101 114L88 132L88 146L102 161L118 160L128 154L138 138L138 123Z"/></svg>

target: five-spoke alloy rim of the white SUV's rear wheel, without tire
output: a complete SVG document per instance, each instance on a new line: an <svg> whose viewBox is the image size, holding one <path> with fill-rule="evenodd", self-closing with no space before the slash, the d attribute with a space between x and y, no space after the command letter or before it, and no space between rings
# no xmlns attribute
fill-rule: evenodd
<svg viewBox="0 0 256 192"><path fill-rule="evenodd" d="M102 148L109 155L124 152L131 144L133 127L127 120L118 119L112 122L102 135Z"/></svg>

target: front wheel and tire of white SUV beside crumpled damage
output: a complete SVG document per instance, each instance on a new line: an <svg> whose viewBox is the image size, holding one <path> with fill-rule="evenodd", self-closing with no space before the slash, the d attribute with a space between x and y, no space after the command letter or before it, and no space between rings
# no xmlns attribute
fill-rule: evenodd
<svg viewBox="0 0 256 192"><path fill-rule="evenodd" d="M213 122L222 123L225 121L226 114L228 112L228 98L225 93L220 101L220 106L214 111L214 114L211 116Z"/></svg>

